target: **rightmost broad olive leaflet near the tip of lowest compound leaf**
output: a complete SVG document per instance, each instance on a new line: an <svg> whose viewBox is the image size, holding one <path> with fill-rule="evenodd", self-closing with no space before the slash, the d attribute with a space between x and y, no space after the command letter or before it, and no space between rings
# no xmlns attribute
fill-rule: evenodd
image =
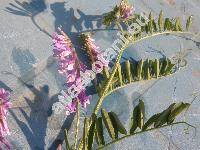
<svg viewBox="0 0 200 150"><path fill-rule="evenodd" d="M173 109L171 110L171 113L168 117L168 121L171 123L177 115L179 115L181 112L188 109L189 107L190 107L189 103L183 103L183 102L176 103L173 106Z"/></svg>

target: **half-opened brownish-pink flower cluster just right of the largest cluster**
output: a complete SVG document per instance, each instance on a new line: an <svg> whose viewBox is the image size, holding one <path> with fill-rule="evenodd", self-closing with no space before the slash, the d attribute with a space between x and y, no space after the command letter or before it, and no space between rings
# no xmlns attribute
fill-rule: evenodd
<svg viewBox="0 0 200 150"><path fill-rule="evenodd" d="M81 37L84 42L86 52L91 60L91 64L98 61L100 56L103 55L103 52L99 50L98 46L96 46L95 40L88 34L82 34ZM103 66L108 67L109 61L101 60L101 62L103 63Z"/></svg>

